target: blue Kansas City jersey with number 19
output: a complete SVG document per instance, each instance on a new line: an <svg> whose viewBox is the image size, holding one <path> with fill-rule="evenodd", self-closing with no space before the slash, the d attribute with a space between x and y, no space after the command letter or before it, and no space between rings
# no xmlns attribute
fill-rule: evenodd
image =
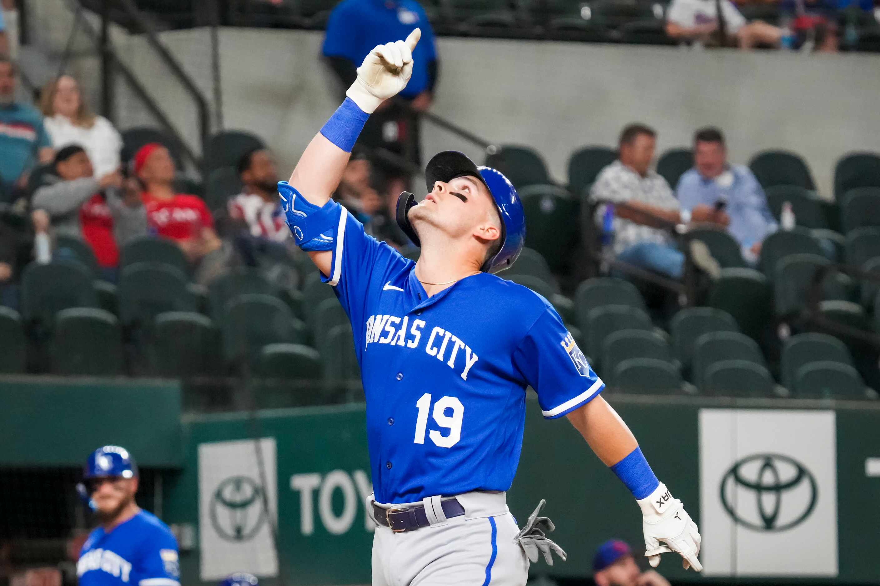
<svg viewBox="0 0 880 586"><path fill-rule="evenodd" d="M354 329L376 499L507 490L525 388L554 418L605 385L539 294L480 273L429 297L414 267L342 211L332 274L322 279Z"/></svg>

